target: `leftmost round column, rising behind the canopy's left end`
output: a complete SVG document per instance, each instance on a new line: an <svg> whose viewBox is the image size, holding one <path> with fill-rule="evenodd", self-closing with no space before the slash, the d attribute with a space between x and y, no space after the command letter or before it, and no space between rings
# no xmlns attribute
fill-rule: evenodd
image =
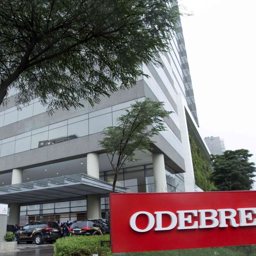
<svg viewBox="0 0 256 256"><path fill-rule="evenodd" d="M13 169L12 170L12 184L22 183L22 169ZM9 225L19 225L19 213L20 206L19 204L12 203L10 204L10 213L9 213Z"/></svg>

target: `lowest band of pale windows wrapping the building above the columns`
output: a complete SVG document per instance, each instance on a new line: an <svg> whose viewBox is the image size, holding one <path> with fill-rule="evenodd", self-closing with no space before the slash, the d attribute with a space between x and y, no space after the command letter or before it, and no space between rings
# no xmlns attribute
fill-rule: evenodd
<svg viewBox="0 0 256 256"><path fill-rule="evenodd" d="M137 100L143 99L144 97ZM0 140L0 157L102 132L106 127L116 125L116 118L124 114L124 109L129 108L132 103L135 103L135 100L120 103L112 107L97 110L89 114L83 114ZM15 110L15 113L18 112ZM170 129L167 124L165 125L166 131L162 131L160 134L180 155L182 155L180 140L172 129Z"/></svg>

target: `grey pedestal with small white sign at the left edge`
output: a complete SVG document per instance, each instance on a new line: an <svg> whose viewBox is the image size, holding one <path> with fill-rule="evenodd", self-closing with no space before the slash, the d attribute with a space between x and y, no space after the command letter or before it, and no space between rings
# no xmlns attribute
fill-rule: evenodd
<svg viewBox="0 0 256 256"><path fill-rule="evenodd" d="M8 204L0 204L0 253L11 252L17 249L17 242L6 242L4 235L7 227Z"/></svg>

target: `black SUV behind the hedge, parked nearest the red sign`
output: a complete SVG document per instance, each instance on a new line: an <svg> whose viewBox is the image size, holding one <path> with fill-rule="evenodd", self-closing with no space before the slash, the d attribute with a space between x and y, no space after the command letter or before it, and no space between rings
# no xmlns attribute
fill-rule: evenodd
<svg viewBox="0 0 256 256"><path fill-rule="evenodd" d="M109 226L102 219L74 221L69 227L69 236L91 236L109 234Z"/></svg>

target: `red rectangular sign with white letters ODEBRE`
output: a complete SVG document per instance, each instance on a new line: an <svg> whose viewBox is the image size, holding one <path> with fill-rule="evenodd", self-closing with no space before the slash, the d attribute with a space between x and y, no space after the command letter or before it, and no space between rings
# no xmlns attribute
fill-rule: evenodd
<svg viewBox="0 0 256 256"><path fill-rule="evenodd" d="M256 191L110 194L111 249L256 244Z"/></svg>

